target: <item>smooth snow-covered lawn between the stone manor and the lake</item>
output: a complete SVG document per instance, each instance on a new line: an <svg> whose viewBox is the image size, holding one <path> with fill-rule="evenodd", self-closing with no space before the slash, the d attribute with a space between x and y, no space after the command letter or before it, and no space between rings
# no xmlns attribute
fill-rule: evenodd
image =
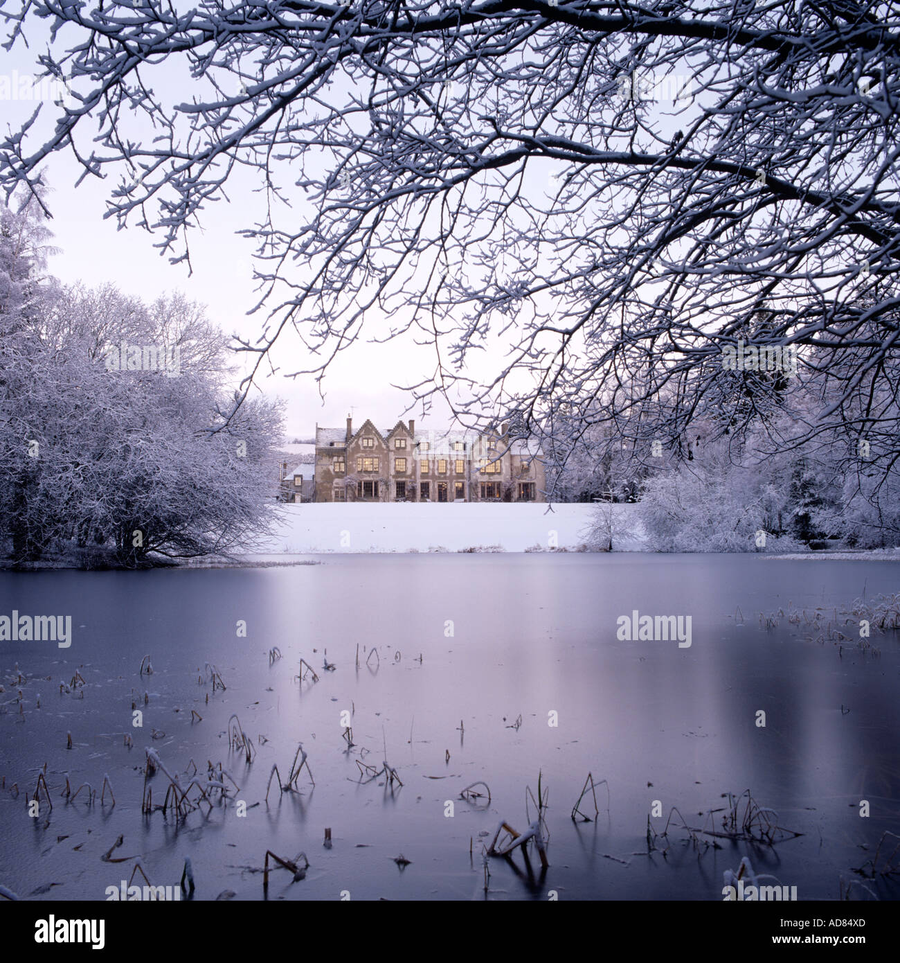
<svg viewBox="0 0 900 963"><path fill-rule="evenodd" d="M578 550L593 505L475 502L286 505L276 534L254 555L317 552ZM630 513L630 505L615 505ZM616 548L633 551L638 542Z"/></svg>

